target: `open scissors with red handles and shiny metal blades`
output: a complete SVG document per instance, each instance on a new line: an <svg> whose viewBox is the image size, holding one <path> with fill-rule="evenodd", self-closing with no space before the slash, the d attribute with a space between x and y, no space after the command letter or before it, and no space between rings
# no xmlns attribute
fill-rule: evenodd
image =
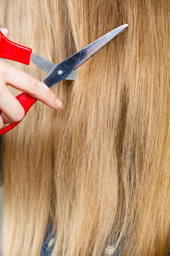
<svg viewBox="0 0 170 256"><path fill-rule="evenodd" d="M39 55L34 54L31 48L16 44L8 40L0 31L0 58L10 59L12 61L17 61L26 65L29 65L30 61L33 62L48 74L45 79L42 80L42 83L50 88L62 79L75 80L78 67L105 44L111 41L112 38L114 38L116 35L119 35L127 26L128 24L124 24L117 27L116 29L113 29L111 32L103 35L101 38L81 49L79 52L74 53L69 58L60 62L58 65L40 57ZM37 99L27 93L21 93L20 95L16 96L16 99L23 106L25 110L25 116L31 106L37 102ZM9 124L5 128L1 129L0 135L5 134L6 132L13 129L22 120Z"/></svg>

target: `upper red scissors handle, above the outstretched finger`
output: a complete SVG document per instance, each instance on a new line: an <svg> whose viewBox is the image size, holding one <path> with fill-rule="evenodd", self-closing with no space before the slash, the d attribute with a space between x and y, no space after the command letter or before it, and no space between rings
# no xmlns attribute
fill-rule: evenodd
<svg viewBox="0 0 170 256"><path fill-rule="evenodd" d="M10 41L0 31L0 58L6 58L29 65L31 53L31 48Z"/></svg>

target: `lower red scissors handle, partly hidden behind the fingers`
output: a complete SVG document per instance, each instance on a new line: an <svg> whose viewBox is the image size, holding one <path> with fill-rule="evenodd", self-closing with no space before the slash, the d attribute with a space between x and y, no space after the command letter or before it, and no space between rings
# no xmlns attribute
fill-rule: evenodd
<svg viewBox="0 0 170 256"><path fill-rule="evenodd" d="M37 99L33 98L32 96L28 95L27 93L21 93L20 95L16 96L16 99L21 103L25 110L25 116L28 110L34 105L34 103L37 101ZM24 117L25 117L24 116ZM23 118L24 118L23 117ZM22 119L23 120L23 119ZM10 131L15 126L17 126L22 120L19 122L15 122L13 124L7 125L5 128L0 130L0 135L5 134L7 131Z"/></svg>

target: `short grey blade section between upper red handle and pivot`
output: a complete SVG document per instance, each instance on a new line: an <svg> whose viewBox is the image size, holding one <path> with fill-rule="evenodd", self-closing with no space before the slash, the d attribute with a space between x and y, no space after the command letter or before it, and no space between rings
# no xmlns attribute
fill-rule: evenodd
<svg viewBox="0 0 170 256"><path fill-rule="evenodd" d="M54 70L55 67L57 67L56 64L52 63L51 61L46 60L45 58L40 57L37 54L31 53L31 59L35 65L40 67L43 71L45 71L47 74L49 74L52 70Z"/></svg>

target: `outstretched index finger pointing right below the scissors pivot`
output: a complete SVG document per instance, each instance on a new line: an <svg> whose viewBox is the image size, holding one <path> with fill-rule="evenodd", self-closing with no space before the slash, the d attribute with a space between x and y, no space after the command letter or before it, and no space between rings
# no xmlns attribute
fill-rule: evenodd
<svg viewBox="0 0 170 256"><path fill-rule="evenodd" d="M59 97L46 85L7 63L5 65L6 84L11 85L15 89L28 93L29 95L43 102L48 107L55 109L63 108L63 104L59 100Z"/></svg>

